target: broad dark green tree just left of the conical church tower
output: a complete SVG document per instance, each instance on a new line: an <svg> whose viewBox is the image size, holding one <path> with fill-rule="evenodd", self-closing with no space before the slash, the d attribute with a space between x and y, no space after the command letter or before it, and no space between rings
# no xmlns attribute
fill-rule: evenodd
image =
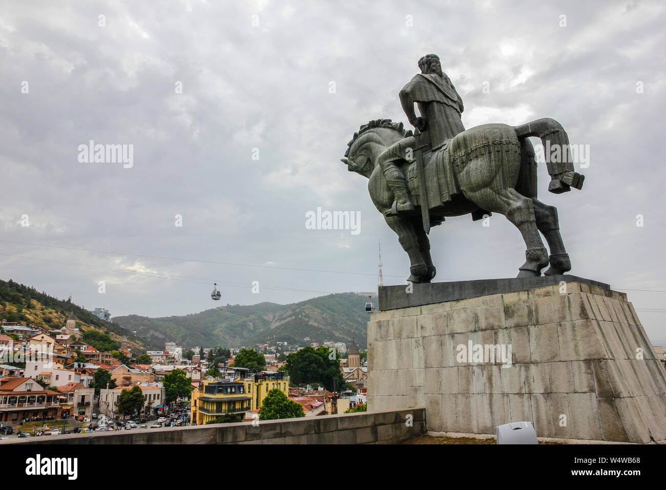
<svg viewBox="0 0 666 490"><path fill-rule="evenodd" d="M340 361L328 347L309 345L287 356L286 371L292 385L320 384L328 391L341 390L346 382L340 373Z"/></svg>

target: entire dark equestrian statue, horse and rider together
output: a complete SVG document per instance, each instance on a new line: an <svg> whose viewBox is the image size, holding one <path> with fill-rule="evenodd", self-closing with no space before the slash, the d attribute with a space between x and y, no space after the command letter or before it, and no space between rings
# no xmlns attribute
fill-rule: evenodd
<svg viewBox="0 0 666 490"><path fill-rule="evenodd" d="M537 199L537 163L528 139L538 137L553 150L545 152L550 192L581 189L585 177L573 169L563 127L544 118L516 127L484 124L466 130L462 99L440 59L426 55L418 66L422 73L400 91L414 132L390 119L370 121L354 133L342 159L349 171L368 177L372 202L410 257L407 280L428 283L435 277L430 227L468 213L474 221L500 213L519 229L527 251L518 277L539 276L547 265L546 275L571 270L557 209Z"/></svg>

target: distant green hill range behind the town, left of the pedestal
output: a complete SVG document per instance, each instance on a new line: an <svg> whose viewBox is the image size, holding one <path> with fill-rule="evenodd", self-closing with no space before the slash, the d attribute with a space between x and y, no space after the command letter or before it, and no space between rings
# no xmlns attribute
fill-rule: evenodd
<svg viewBox="0 0 666 490"><path fill-rule="evenodd" d="M304 345L304 337L318 343L350 343L353 337L364 349L368 325L365 301L355 293L338 293L290 305L226 305L180 317L129 315L113 317L113 321L137 331L145 345L155 349L163 349L165 341L186 347L250 347L277 341Z"/></svg>

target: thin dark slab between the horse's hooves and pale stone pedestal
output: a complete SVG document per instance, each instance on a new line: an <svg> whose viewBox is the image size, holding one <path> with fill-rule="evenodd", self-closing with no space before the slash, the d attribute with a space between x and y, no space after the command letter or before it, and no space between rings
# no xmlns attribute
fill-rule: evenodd
<svg viewBox="0 0 666 490"><path fill-rule="evenodd" d="M610 289L605 283L584 279L575 275L543 275L539 277L511 277L507 279L479 279L477 281L454 281L448 283L423 283L412 285L413 292L406 292L406 285L382 286L379 288L380 311L432 305L460 299L517 293L544 286L553 286L561 281L581 283L587 286ZM587 292L587 291L586 291ZM418 315L419 313L416 313ZM373 317L372 320L384 318Z"/></svg>

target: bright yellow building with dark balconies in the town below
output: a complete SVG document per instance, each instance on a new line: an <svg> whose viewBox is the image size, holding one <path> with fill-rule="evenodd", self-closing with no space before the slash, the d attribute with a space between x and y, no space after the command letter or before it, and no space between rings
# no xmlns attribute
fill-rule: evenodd
<svg viewBox="0 0 666 490"><path fill-rule="evenodd" d="M192 425L202 425L225 413L246 412L261 407L268 391L278 388L289 396L289 378L278 375L254 375L230 379L205 379L192 390Z"/></svg>

